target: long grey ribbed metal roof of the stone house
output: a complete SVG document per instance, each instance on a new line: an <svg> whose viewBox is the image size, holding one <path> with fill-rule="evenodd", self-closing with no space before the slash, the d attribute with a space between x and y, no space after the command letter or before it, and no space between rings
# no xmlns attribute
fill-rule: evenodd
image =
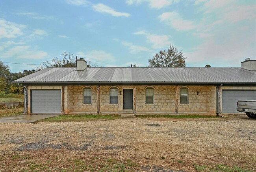
<svg viewBox="0 0 256 172"><path fill-rule="evenodd" d="M242 68L45 68L14 83L241 83L256 84L256 71Z"/></svg>

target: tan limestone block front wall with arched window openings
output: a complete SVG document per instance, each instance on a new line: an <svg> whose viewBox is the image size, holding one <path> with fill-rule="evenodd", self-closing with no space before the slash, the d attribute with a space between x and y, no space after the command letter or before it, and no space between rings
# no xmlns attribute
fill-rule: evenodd
<svg viewBox="0 0 256 172"><path fill-rule="evenodd" d="M92 89L91 104L83 104L83 88L85 87L86 86L64 86L63 106L65 114L70 112L97 113L97 86L89 86ZM100 86L101 113L122 112L123 89L134 89L134 86L117 85L118 103L109 104L109 89L111 87L112 86ZM147 85L136 86L136 112L174 113L176 86L151 87L154 88L154 104L146 104L145 88L147 88ZM181 86L178 87L180 88ZM178 93L179 112L215 112L215 86L186 86L186 88L188 88L188 104L180 104L180 94ZM28 113L30 113L30 90L33 89L61 90L62 86L28 86ZM228 87L226 89L232 88ZM256 87L254 87L254 89L256 89ZM199 92L198 95L197 91Z"/></svg>

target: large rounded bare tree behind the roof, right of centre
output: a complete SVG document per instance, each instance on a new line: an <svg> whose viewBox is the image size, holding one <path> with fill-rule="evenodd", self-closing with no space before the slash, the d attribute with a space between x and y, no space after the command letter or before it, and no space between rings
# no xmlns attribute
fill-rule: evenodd
<svg viewBox="0 0 256 172"><path fill-rule="evenodd" d="M162 49L152 59L148 59L148 67L186 67L186 58L182 51L170 45L166 51Z"/></svg>

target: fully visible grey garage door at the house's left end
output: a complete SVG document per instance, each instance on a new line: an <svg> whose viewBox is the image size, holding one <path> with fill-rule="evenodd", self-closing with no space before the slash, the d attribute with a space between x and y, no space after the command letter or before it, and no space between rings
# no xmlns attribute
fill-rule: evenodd
<svg viewBox="0 0 256 172"><path fill-rule="evenodd" d="M32 90L32 113L61 113L61 90Z"/></svg>

